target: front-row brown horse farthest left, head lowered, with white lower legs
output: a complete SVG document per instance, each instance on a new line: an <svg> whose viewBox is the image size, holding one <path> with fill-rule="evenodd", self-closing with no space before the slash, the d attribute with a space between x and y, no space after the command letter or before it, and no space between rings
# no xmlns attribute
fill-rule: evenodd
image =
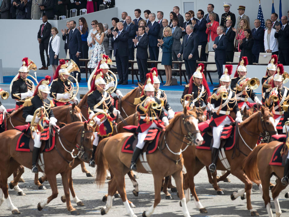
<svg viewBox="0 0 289 217"><path fill-rule="evenodd" d="M8 130L0 134L0 140L2 141L2 151L0 152L0 205L5 198L8 208L11 209L13 214L19 214L20 212L13 205L8 194L7 179L19 165L32 168L32 152L15 150L21 133L18 130ZM52 189L52 195L38 203L37 208L39 211L57 197L56 175L60 173L67 209L71 214L78 214L77 210L71 205L69 196L69 173L71 172L71 163L74 160L72 151L74 148L79 148L82 159L89 160L91 158L93 140L93 127L83 122L67 124L55 132L55 148L43 153L45 174ZM42 168L38 167L38 169L44 172Z"/></svg>

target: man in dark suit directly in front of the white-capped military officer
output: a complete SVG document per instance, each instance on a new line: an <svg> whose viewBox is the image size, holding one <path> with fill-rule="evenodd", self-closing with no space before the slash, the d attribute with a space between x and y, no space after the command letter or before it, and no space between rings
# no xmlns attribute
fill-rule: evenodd
<svg viewBox="0 0 289 217"><path fill-rule="evenodd" d="M226 61L227 62L233 62L234 60L234 40L236 37L236 33L232 30L232 20L227 20L226 21L226 28L225 28L225 36L228 39L228 46L226 49Z"/></svg>

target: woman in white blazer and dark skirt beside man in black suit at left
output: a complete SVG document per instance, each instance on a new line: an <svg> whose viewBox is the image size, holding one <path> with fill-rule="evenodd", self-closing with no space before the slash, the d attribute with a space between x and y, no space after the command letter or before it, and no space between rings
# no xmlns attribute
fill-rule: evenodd
<svg viewBox="0 0 289 217"><path fill-rule="evenodd" d="M60 49L60 37L57 35L58 30L55 27L51 28L52 36L49 39L48 56L49 62L52 65L53 75L58 66L58 54Z"/></svg>

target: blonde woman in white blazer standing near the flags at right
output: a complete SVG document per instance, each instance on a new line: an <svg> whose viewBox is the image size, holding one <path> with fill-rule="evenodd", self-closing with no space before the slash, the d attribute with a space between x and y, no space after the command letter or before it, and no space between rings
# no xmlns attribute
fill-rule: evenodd
<svg viewBox="0 0 289 217"><path fill-rule="evenodd" d="M267 19L265 26L268 28L264 35L265 52L278 55L278 40L274 37L276 30L272 28L272 21Z"/></svg>

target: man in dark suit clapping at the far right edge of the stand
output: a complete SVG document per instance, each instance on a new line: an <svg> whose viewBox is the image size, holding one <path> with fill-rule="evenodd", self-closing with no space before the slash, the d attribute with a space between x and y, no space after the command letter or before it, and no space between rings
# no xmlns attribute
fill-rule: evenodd
<svg viewBox="0 0 289 217"><path fill-rule="evenodd" d="M276 26L275 38L278 39L279 61L283 65L289 65L289 26L287 17L281 17L282 25Z"/></svg>

